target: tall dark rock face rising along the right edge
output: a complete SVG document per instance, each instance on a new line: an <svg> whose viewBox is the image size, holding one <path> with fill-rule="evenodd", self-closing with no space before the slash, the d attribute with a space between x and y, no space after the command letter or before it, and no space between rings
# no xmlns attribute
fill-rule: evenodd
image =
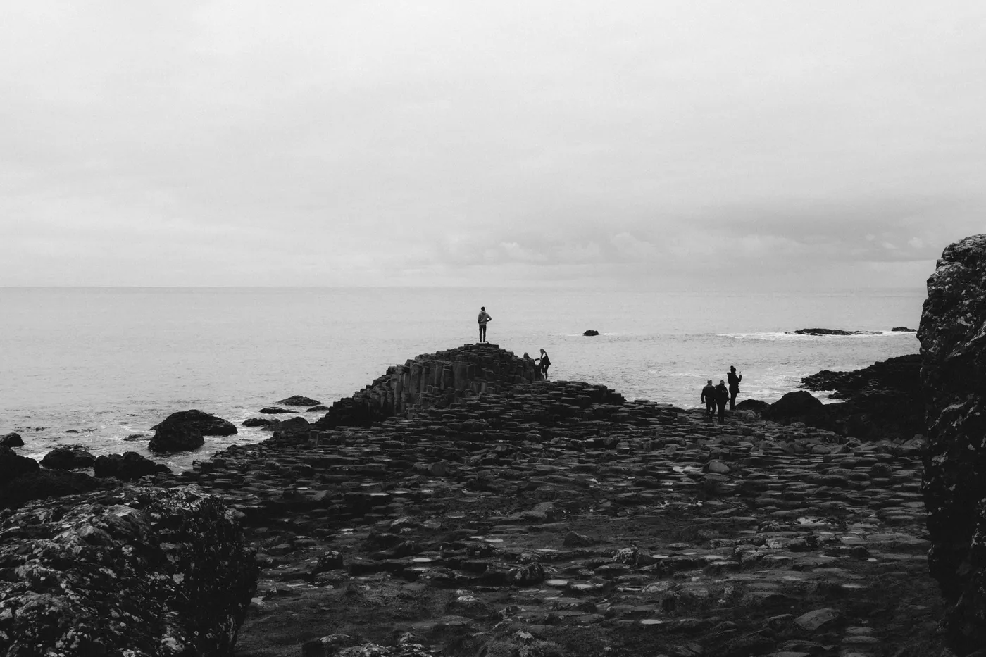
<svg viewBox="0 0 986 657"><path fill-rule="evenodd" d="M948 247L921 328L929 564L959 655L986 647L986 235Z"/></svg>

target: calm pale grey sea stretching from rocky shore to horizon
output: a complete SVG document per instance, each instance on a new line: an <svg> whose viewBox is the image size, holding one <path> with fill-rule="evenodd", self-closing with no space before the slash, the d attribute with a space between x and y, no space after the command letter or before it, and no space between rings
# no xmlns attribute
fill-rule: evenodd
<svg viewBox="0 0 986 657"><path fill-rule="evenodd" d="M291 395L331 403L388 365L476 339L551 356L551 377L628 399L696 406L706 379L742 372L740 399L775 401L803 376L916 353L924 290L699 294L516 289L0 288L0 434L40 458L58 444L134 450L169 413L199 408L239 425ZM812 337L806 327L885 331ZM585 337L587 328L598 337ZM321 413L309 413L314 420ZM290 415L281 415L281 418ZM68 433L70 430L79 433ZM207 438L176 469L231 443Z"/></svg>

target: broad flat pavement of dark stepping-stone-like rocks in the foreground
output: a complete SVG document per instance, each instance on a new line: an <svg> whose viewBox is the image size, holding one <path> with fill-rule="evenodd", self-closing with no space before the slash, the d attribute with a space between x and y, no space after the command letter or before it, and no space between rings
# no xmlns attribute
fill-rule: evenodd
<svg viewBox="0 0 986 657"><path fill-rule="evenodd" d="M539 381L182 478L258 549L241 657L939 654L919 450L754 417Z"/></svg>

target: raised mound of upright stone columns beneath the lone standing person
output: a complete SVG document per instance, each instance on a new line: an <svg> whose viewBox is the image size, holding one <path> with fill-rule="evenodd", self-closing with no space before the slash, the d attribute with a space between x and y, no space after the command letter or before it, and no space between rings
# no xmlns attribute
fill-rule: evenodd
<svg viewBox="0 0 986 657"><path fill-rule="evenodd" d="M465 397L501 393L541 379L534 361L489 342L422 354L387 373L352 397L336 401L317 421L318 429L370 426L396 415L445 408Z"/></svg>

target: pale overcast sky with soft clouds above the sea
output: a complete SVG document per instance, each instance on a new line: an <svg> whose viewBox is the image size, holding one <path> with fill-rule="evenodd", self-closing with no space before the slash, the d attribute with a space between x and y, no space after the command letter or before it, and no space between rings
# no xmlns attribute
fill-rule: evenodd
<svg viewBox="0 0 986 657"><path fill-rule="evenodd" d="M9 3L0 286L921 287L986 3Z"/></svg>

